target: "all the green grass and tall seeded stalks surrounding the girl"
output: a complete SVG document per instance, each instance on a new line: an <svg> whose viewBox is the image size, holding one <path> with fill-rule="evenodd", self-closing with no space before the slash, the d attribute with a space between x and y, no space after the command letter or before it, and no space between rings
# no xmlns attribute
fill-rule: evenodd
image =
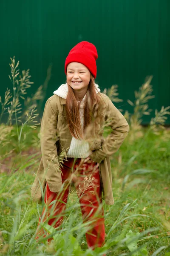
<svg viewBox="0 0 170 256"><path fill-rule="evenodd" d="M37 108L44 97L43 86L32 98L26 98L32 84L29 70L20 75L19 62L15 65L14 58L10 67L13 91L7 88L4 101L0 97L0 255L170 256L170 131L164 127L170 107L156 110L147 128L141 125L142 116L151 112L148 102L154 97L152 77L135 92L135 102L127 100L133 106L133 113L125 112L130 132L111 159L115 204L103 202L106 243L92 251L85 242L91 223L82 223L74 190L69 195L62 228L41 223L48 238L53 238L51 244L47 238L35 240L45 207L44 203L33 203L30 192L40 162ZM49 78L50 70L45 88ZM122 102L117 85L104 92L113 102ZM6 123L2 123L4 115Z"/></svg>

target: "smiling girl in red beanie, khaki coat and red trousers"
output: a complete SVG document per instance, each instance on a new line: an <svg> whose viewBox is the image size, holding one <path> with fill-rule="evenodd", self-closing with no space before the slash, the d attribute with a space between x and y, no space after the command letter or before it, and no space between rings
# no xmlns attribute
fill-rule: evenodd
<svg viewBox="0 0 170 256"><path fill-rule="evenodd" d="M67 83L45 104L40 131L42 159L31 188L32 198L38 202L42 201L40 186L45 189L47 212L43 209L40 221L57 228L73 182L83 221L92 221L86 233L92 249L105 243L102 198L106 204L114 204L110 156L129 130L125 117L95 84L97 58L96 47L87 41L69 52L65 60ZM106 138L105 126L111 127ZM37 239L40 234L45 236L38 226Z"/></svg>

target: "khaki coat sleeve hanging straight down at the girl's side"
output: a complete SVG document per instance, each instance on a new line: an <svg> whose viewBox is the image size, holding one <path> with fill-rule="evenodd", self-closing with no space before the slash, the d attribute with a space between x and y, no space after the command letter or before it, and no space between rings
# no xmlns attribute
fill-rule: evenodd
<svg viewBox="0 0 170 256"><path fill-rule="evenodd" d="M40 129L40 144L45 179L51 192L58 192L62 186L61 172L57 155L58 109L49 98L45 104Z"/></svg>

